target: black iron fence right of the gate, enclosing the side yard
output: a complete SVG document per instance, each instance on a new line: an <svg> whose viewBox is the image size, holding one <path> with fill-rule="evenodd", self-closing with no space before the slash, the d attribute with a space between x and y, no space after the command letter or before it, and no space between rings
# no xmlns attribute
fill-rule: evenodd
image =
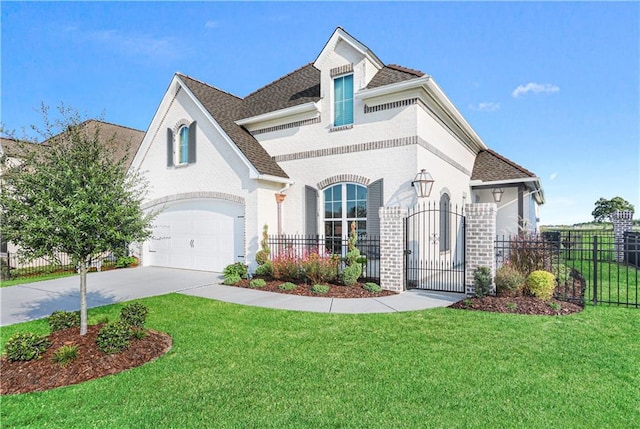
<svg viewBox="0 0 640 429"><path fill-rule="evenodd" d="M556 297L578 303L640 307L640 243L613 231L551 230L499 237L497 266L509 262L522 272L543 269L558 280Z"/></svg>

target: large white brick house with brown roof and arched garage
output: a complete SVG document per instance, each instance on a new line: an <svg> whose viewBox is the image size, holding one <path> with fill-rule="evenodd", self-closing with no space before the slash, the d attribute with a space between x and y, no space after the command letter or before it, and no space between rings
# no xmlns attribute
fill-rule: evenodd
<svg viewBox="0 0 640 429"><path fill-rule="evenodd" d="M378 209L414 207L423 169L434 182L420 202L436 207L502 190L499 234L535 229L544 202L539 178L489 150L431 76L384 64L342 28L315 61L245 98L174 75L132 168L159 212L143 264L209 271L255 267L265 224L379 235Z"/></svg>

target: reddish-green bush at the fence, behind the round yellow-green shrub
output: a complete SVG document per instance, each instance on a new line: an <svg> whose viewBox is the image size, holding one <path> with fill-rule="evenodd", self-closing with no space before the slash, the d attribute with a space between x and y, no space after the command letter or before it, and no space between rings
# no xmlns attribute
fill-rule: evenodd
<svg viewBox="0 0 640 429"><path fill-rule="evenodd" d="M551 269L553 243L534 234L521 234L509 242L509 263L524 275Z"/></svg>

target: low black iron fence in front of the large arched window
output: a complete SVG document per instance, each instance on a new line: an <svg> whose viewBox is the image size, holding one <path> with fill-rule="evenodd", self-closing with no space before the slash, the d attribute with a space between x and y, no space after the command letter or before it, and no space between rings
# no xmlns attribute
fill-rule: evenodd
<svg viewBox="0 0 640 429"><path fill-rule="evenodd" d="M309 253L320 255L338 255L344 258L349 243L346 237L325 237L321 235L270 235L267 243L271 249L271 258L280 255L303 258ZM380 282L380 237L362 236L356 247L363 257L361 281Z"/></svg>

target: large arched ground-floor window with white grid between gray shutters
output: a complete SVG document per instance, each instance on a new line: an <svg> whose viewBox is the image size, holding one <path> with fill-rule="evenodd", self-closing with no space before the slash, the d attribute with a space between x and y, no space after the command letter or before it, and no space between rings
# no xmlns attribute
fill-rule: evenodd
<svg viewBox="0 0 640 429"><path fill-rule="evenodd" d="M343 240L349 236L351 223L362 237L367 232L367 188L354 183L339 183L324 190L324 234L327 249L341 254Z"/></svg>

